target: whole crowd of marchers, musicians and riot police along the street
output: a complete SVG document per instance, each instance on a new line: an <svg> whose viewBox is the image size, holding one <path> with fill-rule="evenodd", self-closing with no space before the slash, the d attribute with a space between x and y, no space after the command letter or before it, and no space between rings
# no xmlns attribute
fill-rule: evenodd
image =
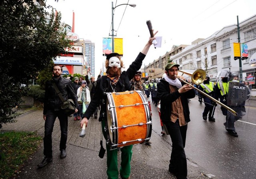
<svg viewBox="0 0 256 179"><path fill-rule="evenodd" d="M76 111L73 114L75 121L80 121L80 126L88 125L90 117L98 119L102 125L102 133L106 141L108 141L108 133L106 126L108 125L107 115L107 93L118 93L124 91L142 91L148 104L150 105L149 97L151 95L152 104L158 108L159 119L162 127L162 135L170 135L172 140L172 151L170 154L169 171L178 179L187 178L187 161L185 154L186 132L188 122L190 122L189 101L196 95L201 97L205 107L202 112L202 119L215 122L214 111L217 102L221 105L223 115L226 116L224 123L225 129L232 136L238 137L235 130L234 122L245 115L245 100L249 95L249 86L238 81L237 72L228 72L223 70L218 73L219 81L214 84L210 81L210 77L206 74L206 78L201 84L193 84L191 79L186 80L183 76L178 76L179 65L175 62L169 62L165 66L165 73L162 78L151 79L150 82L142 82L142 72L140 68L142 61L146 57L152 41L155 38L150 38L143 50L138 54L137 58L132 62L126 71L122 71L124 67L121 56L118 53L111 53L106 56L105 67L106 76L95 77L80 76L80 78L63 78L62 67L54 65L52 67L52 80L46 83L43 119L44 125L44 159L38 164L38 167L44 167L52 161L52 131L54 122L58 117L61 128L60 138L60 158L66 157L66 141L68 134L68 115L63 113L60 108L62 97L67 100L72 98ZM100 71L101 74L102 70ZM72 81L73 82L72 82ZM196 87L195 87L196 86ZM234 88L238 86L239 88ZM58 90L60 93L58 93ZM198 89L195 89L198 88ZM233 89L243 89L233 90ZM198 91L202 91L198 92ZM232 92L230 92L232 91ZM205 93L206 95L204 95ZM230 95L232 93L232 95ZM245 93L246 97L240 97L239 93ZM234 97L234 94L238 98ZM199 98L200 99L200 98ZM203 101L202 101L203 99ZM237 111L237 115L232 115L228 112L230 107ZM98 110L100 110L98 112ZM99 116L98 116L99 113ZM150 145L150 141L145 140L146 145ZM119 175L122 179L130 178L131 160L132 160L133 145L125 145L112 149L106 142L107 151L107 175L109 179L118 179ZM121 151L121 162L118 167L117 153Z"/></svg>

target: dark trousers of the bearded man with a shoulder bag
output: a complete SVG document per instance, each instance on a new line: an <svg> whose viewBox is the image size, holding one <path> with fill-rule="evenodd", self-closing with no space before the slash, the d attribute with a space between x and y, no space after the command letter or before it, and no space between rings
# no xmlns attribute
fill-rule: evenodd
<svg viewBox="0 0 256 179"><path fill-rule="evenodd" d="M63 111L47 110L44 123L44 156L46 157L52 157L52 131L56 117L58 117L60 121L60 150L66 149L68 138L68 116Z"/></svg>

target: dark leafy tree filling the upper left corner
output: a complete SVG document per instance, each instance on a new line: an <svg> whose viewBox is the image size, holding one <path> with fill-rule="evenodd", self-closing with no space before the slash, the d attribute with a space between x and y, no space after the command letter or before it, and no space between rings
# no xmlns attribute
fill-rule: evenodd
<svg viewBox="0 0 256 179"><path fill-rule="evenodd" d="M0 123L12 123L12 109L22 102L28 84L70 47L61 14L55 15L45 0L0 1ZM48 17L48 18L46 18Z"/></svg>

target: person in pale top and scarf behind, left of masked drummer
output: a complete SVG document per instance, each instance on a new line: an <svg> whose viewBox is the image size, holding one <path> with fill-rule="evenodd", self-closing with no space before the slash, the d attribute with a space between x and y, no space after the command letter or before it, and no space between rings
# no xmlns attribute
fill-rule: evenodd
<svg viewBox="0 0 256 179"><path fill-rule="evenodd" d="M82 81L82 86L80 86L80 88L78 88L77 90L77 97L78 107L80 111L79 115L82 116L91 101L90 90L85 80Z"/></svg>

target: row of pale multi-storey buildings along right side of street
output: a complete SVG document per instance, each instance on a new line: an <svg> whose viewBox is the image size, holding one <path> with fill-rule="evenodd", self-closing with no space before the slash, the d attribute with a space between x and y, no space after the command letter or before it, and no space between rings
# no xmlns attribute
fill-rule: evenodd
<svg viewBox="0 0 256 179"><path fill-rule="evenodd" d="M255 88L256 78L256 15L239 22L240 43L248 46L248 58L241 60L242 81ZM234 43L238 42L238 25L225 26L206 39L197 39L191 45L173 46L170 52L154 60L143 72L149 73L149 80L161 78L168 60L180 64L180 70L193 73L203 69L211 78L221 70L240 72L240 62L234 60ZM180 47L180 48L179 48ZM151 73L150 73L151 72ZM154 72L154 73L153 73Z"/></svg>

